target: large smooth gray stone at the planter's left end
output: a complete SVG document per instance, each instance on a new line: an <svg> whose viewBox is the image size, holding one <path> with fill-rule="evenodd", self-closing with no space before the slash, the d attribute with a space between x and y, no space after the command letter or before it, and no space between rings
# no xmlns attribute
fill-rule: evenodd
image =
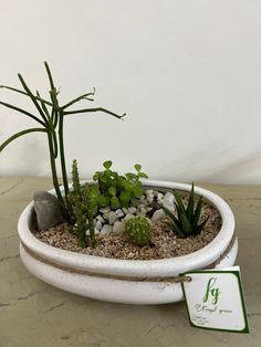
<svg viewBox="0 0 261 347"><path fill-rule="evenodd" d="M33 201L39 230L48 230L63 222L62 206L55 196L36 191Z"/></svg>

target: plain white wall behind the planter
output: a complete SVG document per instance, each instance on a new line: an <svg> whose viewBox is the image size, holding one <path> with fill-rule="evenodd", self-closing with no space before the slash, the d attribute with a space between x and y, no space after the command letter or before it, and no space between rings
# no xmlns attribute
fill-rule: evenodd
<svg viewBox="0 0 261 347"><path fill-rule="evenodd" d="M21 72L43 94L43 61L61 102L96 87L91 106L127 113L66 119L67 164L83 177L112 159L150 178L261 183L261 1L0 1L0 84ZM46 95L46 93L45 93ZM33 111L0 90L0 99ZM88 106L84 102L80 106ZM0 106L0 141L35 124ZM50 176L43 134L0 154L0 176Z"/></svg>

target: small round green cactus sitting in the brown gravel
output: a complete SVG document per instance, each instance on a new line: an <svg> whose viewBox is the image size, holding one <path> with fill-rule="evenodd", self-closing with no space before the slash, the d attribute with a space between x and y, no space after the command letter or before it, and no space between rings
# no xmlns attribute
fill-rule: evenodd
<svg viewBox="0 0 261 347"><path fill-rule="evenodd" d="M144 217L135 217L126 221L125 232L137 245L146 245L152 240L150 224Z"/></svg>

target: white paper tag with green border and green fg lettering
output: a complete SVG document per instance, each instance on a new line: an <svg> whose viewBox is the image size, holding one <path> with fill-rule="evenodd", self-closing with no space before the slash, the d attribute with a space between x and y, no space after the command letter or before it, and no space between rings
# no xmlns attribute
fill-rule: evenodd
<svg viewBox="0 0 261 347"><path fill-rule="evenodd" d="M191 326L249 333L239 266L180 275L191 277L181 283Z"/></svg>

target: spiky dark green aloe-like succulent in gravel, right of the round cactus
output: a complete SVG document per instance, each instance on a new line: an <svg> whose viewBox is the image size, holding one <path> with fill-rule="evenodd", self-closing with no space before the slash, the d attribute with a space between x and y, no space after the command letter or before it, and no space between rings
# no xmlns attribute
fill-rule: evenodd
<svg viewBox="0 0 261 347"><path fill-rule="evenodd" d="M199 197L195 207L194 183L189 193L187 207L184 204L181 197L175 190L174 196L176 199L175 206L177 210L177 217L174 215L169 209L161 206L164 212L171 219L171 229L181 238L199 234L209 219L209 217L207 217L201 223L199 223L203 206L203 198Z"/></svg>

